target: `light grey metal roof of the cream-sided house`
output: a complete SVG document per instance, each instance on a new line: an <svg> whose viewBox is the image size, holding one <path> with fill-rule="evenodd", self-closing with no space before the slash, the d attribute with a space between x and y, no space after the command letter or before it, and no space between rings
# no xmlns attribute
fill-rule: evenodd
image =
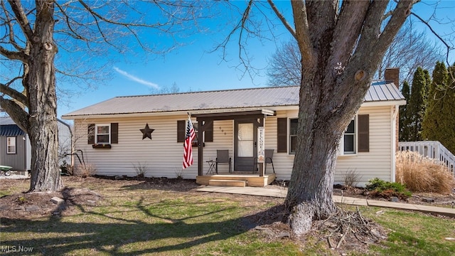
<svg viewBox="0 0 455 256"><path fill-rule="evenodd" d="M365 96L365 102L389 100L404 100L404 97L393 83L384 81L373 82ZM63 118L98 114L193 112L285 106L299 106L299 86L114 97L64 114Z"/></svg>

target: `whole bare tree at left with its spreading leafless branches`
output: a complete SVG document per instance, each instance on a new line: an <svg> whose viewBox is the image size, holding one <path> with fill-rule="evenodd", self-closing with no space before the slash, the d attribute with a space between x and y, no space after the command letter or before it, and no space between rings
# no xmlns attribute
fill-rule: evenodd
<svg viewBox="0 0 455 256"><path fill-rule="evenodd" d="M58 169L56 73L78 77L90 66L55 68L58 54L72 58L105 55L110 50L129 53L137 43L150 53L179 45L179 38L199 28L207 3L188 1L19 1L0 0L1 108L26 131L31 140L29 191L62 188ZM152 15L153 14L153 15ZM168 35L171 44L147 44L147 33ZM133 40L131 40L133 39ZM81 51L83 49L83 51ZM102 64L101 64L102 65ZM74 66L73 66L74 68ZM82 70L82 71L80 71ZM6 81L6 82L4 82Z"/></svg>

